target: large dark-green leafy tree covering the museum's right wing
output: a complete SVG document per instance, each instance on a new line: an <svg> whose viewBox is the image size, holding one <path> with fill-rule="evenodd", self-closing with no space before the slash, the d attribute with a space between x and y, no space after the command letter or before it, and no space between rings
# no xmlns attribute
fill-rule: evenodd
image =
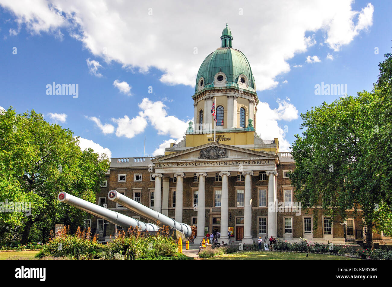
<svg viewBox="0 0 392 287"><path fill-rule="evenodd" d="M321 200L330 215L343 220L347 209L354 207L354 216L362 210L369 248L373 227L391 231L392 57L385 56L371 93L324 102L301 114L304 132L292 144L296 169L290 179L298 200L311 206Z"/></svg>

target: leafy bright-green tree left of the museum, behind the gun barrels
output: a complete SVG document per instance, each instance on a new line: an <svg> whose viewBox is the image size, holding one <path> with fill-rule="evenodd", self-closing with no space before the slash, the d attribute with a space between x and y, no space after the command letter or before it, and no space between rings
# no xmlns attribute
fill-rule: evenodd
<svg viewBox="0 0 392 287"><path fill-rule="evenodd" d="M0 139L0 170L6 175L0 179L0 201L31 202L31 215L3 213L0 225L21 227L25 244L33 226L45 233L63 218L66 224L80 223L83 211L60 204L57 195L66 191L94 202L110 166L106 155L81 151L71 130L50 125L34 110L2 112Z"/></svg>

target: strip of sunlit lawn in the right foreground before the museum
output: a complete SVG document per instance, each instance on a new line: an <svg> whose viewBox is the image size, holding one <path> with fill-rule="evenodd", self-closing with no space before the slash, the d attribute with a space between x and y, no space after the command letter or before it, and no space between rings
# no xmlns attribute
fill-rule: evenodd
<svg viewBox="0 0 392 287"><path fill-rule="evenodd" d="M219 255L204 260L358 260L338 255L274 252L274 251L238 251L235 253Z"/></svg>

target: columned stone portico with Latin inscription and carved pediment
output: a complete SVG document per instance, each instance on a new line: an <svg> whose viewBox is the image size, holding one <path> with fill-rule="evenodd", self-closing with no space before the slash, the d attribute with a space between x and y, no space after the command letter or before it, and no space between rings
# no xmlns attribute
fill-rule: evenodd
<svg viewBox="0 0 392 287"><path fill-rule="evenodd" d="M239 212L243 213L242 242L252 244L253 239L258 236L257 232L252 232L254 229L252 226L256 224L252 217L252 209L260 208L258 192L254 192L258 178L254 179L255 183L252 185L252 177L258 177L260 171L268 172L268 201L272 200L276 204L277 191L274 178L277 175L276 165L279 164L279 159L272 153L256 152L221 143L208 143L158 157L152 162L155 164L155 178L158 179L155 181L155 192L161 189L161 177L170 178L173 182L172 198L162 199L162 210L174 209L174 219L179 222L193 224L191 217L195 220L197 218L195 242L204 238L205 227L209 229L209 212L214 210L214 216L220 218L220 242L227 243L229 241L227 232L230 227L229 218L235 208L242 210ZM209 180L210 184L206 184L206 180ZM242 188L243 197L242 191L237 191L238 188ZM193 193L191 193L192 190ZM165 197L169 197L169 193L165 188L162 191ZM155 198L160 199L158 196ZM170 203L173 205L170 206ZM196 216L190 216L186 211L191 213L194 211ZM187 216L184 216L184 212ZM268 235L277 235L276 220L275 209L268 209ZM231 227L234 227L233 224ZM231 238L231 240L234 239Z"/></svg>

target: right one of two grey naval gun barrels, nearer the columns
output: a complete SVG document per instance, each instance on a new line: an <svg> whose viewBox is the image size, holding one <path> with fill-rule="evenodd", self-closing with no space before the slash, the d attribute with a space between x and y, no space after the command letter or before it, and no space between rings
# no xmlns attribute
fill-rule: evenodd
<svg viewBox="0 0 392 287"><path fill-rule="evenodd" d="M187 240L189 240L189 238L192 236L192 228L188 224L177 222L173 218L167 217L158 211L152 210L151 208L148 208L147 206L144 206L143 204L140 204L139 202L136 202L135 200L132 200L125 195L122 195L116 190L109 191L107 197L110 200L113 200L114 202L117 202L118 204L128 208L134 213L150 220L151 222L160 221L163 225L167 225L172 229L181 231L184 233Z"/></svg>

